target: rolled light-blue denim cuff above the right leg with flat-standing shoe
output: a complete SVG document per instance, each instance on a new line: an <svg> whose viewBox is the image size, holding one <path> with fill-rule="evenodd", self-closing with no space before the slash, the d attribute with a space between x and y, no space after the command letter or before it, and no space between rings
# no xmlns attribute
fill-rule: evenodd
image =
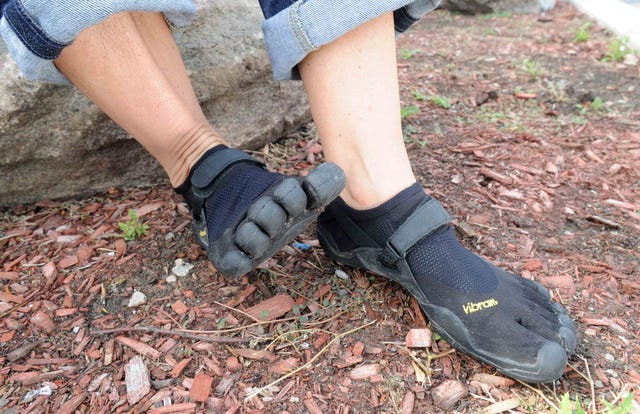
<svg viewBox="0 0 640 414"><path fill-rule="evenodd" d="M395 12L396 31L401 32L439 3L440 0L298 0L262 24L273 77L300 79L297 65L310 52L384 13Z"/></svg>

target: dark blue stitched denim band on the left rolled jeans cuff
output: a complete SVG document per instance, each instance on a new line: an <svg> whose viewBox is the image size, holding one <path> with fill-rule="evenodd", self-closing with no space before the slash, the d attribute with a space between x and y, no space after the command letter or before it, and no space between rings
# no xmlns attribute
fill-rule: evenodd
<svg viewBox="0 0 640 414"><path fill-rule="evenodd" d="M11 6L15 8L15 13ZM9 2L4 10L4 17L16 36L18 36L26 48L37 57L46 60L53 60L60 55L62 49L70 44L60 43L48 37L42 28L40 28L40 26L27 13L19 0ZM6 13L7 10L11 13ZM16 21L13 20L14 18ZM29 31L28 34L34 36L36 39L27 39L25 31Z"/></svg>

